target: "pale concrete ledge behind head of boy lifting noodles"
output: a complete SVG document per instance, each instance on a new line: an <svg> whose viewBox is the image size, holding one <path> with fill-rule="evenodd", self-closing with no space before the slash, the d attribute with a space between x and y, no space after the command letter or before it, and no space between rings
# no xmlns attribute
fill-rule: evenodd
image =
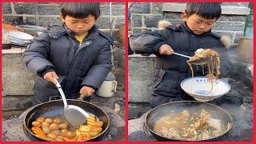
<svg viewBox="0 0 256 144"><path fill-rule="evenodd" d="M185 8L184 3L165 2L162 5L163 12L183 12ZM249 15L250 9L245 6L222 6L222 14Z"/></svg>

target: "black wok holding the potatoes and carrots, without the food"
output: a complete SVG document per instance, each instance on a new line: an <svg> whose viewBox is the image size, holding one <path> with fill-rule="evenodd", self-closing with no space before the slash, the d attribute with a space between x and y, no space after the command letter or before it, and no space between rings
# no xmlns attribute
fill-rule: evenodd
<svg viewBox="0 0 256 144"><path fill-rule="evenodd" d="M66 100L69 105L75 105L81 107L83 110L86 110L90 114L96 115L96 117L103 122L102 126L102 133L97 135L94 138L90 138L86 141L100 141L106 136L106 131L110 126L110 118L102 110L100 107L95 106L90 102L84 102L81 100L74 100L74 99L67 99ZM37 106L34 106L25 116L23 122L23 130L28 138L31 141L46 141L42 138L38 138L35 134L30 130L32 127L32 122L36 120L38 117L43 118L54 118L54 117L62 117L63 114L63 101L61 100L54 100L50 102L44 102Z"/></svg>

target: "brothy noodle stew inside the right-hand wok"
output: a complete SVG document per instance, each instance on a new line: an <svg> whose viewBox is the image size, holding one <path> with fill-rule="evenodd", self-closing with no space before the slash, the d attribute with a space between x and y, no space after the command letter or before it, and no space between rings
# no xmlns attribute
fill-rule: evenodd
<svg viewBox="0 0 256 144"><path fill-rule="evenodd" d="M220 119L211 118L206 110L202 109L199 114L182 110L160 118L154 125L154 131L165 138L198 141L217 137L229 126L230 123L223 126Z"/></svg>

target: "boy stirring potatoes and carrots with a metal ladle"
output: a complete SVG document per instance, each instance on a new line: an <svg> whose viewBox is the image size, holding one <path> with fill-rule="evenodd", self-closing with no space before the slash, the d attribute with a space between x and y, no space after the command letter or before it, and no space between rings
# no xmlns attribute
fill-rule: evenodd
<svg viewBox="0 0 256 144"><path fill-rule="evenodd" d="M34 82L34 103L60 95L54 79L61 82L66 98L89 98L112 68L108 34L99 31L98 2L63 2L61 26L50 26L34 38L23 53L26 66L39 76Z"/></svg>

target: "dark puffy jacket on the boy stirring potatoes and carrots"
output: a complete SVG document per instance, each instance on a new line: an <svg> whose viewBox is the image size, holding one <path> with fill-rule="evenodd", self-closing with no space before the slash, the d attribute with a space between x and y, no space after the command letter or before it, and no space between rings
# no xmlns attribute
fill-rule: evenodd
<svg viewBox="0 0 256 144"><path fill-rule="evenodd" d="M67 98L78 98L82 86L98 89L112 68L111 37L96 26L89 31L82 44L65 24L51 26L34 38L23 53L26 66L40 76L34 83L35 103L46 102L50 96L59 95L51 82L42 74L53 69L62 80Z"/></svg>

